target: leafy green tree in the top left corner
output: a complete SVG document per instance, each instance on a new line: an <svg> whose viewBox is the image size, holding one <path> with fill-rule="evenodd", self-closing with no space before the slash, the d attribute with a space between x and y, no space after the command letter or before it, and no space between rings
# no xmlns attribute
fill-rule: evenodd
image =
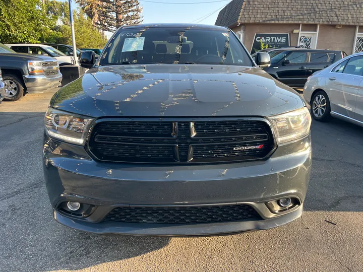
<svg viewBox="0 0 363 272"><path fill-rule="evenodd" d="M37 43L56 35L56 20L41 0L0 0L0 41Z"/></svg>

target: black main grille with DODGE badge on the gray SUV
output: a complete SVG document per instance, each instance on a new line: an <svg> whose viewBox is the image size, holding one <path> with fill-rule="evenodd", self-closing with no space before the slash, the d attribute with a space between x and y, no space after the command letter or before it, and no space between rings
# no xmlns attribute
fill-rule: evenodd
<svg viewBox="0 0 363 272"><path fill-rule="evenodd" d="M273 147L263 120L101 121L89 141L98 160L139 163L258 160Z"/></svg>

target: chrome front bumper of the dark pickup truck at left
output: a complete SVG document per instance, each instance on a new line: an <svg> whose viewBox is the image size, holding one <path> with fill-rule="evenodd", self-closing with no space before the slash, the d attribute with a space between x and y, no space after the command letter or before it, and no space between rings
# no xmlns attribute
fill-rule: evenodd
<svg viewBox="0 0 363 272"><path fill-rule="evenodd" d="M61 84L62 74L58 73L55 77L23 76L28 93L43 93Z"/></svg>

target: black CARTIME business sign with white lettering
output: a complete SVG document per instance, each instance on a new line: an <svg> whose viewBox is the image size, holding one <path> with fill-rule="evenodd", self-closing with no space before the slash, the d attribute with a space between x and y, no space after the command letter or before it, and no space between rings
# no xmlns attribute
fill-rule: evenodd
<svg viewBox="0 0 363 272"><path fill-rule="evenodd" d="M286 47L290 46L290 36L289 33L256 33L251 53L261 50L261 42L268 47Z"/></svg>

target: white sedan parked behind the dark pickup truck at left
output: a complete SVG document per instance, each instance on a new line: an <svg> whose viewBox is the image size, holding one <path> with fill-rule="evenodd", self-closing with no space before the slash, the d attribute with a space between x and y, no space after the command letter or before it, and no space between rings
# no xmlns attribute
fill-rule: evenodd
<svg viewBox="0 0 363 272"><path fill-rule="evenodd" d="M59 66L74 65L73 56L67 56L65 53L49 45L36 43L14 43L6 44L6 46L10 47L17 53L29 53L54 57L58 60Z"/></svg>

